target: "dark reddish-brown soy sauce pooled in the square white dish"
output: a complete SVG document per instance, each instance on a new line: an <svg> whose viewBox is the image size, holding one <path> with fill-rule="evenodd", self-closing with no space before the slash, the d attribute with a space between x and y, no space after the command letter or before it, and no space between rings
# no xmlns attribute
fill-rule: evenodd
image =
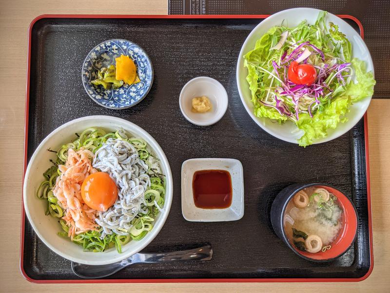
<svg viewBox="0 0 390 293"><path fill-rule="evenodd" d="M226 170L196 171L192 190L197 208L226 209L232 204L232 178Z"/></svg>

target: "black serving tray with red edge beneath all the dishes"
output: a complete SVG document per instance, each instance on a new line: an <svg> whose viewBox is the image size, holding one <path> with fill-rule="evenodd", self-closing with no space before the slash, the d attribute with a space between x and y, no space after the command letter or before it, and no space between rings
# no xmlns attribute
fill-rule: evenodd
<svg viewBox="0 0 390 293"><path fill-rule="evenodd" d="M372 270L366 117L331 142L306 148L274 138L241 103L235 67L242 43L266 16L41 16L30 26L26 110L26 163L58 126L88 115L127 119L148 131L172 168L174 196L168 219L145 251L213 246L207 262L137 264L98 282L359 281ZM356 27L358 25L347 20ZM155 72L148 96L123 110L99 106L84 91L81 65L104 40L136 42ZM182 86L210 76L229 95L225 116L214 126L190 124L181 115ZM235 158L244 167L245 214L234 222L187 222L181 213L180 169L190 158ZM329 263L298 257L273 232L276 194L293 183L323 182L351 197L359 226L351 249ZM33 282L85 282L70 261L50 251L22 214L21 271ZM91 282L91 280L89 280Z"/></svg>

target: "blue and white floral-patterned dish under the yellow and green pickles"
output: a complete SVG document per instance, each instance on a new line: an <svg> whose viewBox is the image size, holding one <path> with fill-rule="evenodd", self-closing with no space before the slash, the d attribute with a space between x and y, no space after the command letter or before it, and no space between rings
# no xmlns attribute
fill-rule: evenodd
<svg viewBox="0 0 390 293"><path fill-rule="evenodd" d="M129 56L137 66L141 80L137 84L124 84L117 89L104 89L91 81L98 77L101 67L115 65L115 58ZM124 109L139 103L148 94L153 84L153 66L146 52L137 44L121 39L98 44L89 52L82 65L82 83L88 96L99 105L110 109Z"/></svg>

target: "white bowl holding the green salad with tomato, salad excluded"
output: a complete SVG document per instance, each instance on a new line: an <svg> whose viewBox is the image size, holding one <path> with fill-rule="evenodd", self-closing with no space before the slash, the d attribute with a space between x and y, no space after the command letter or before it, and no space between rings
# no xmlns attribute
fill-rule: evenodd
<svg viewBox="0 0 390 293"><path fill-rule="evenodd" d="M290 143L296 144L297 139L303 135L303 131L299 130L293 122L289 121L283 125L279 125L278 123L273 123L268 118L258 118L254 116L254 105L251 102L252 95L249 89L249 85L245 79L248 72L247 68L244 68L243 56L254 49L255 42L260 39L271 27L280 25L282 21L288 23L290 27L298 25L299 22L303 20L307 20L310 24L313 24L317 19L318 13L320 11L321 10L313 8L293 8L273 14L264 21L260 22L253 29L242 45L240 54L238 56L236 80L238 92L245 109L258 126L263 128L274 137ZM351 25L331 13L328 13L326 20L328 22L331 21L339 26L340 31L343 32L351 42L352 57L356 57L365 61L367 64L367 70L373 72L374 67L372 64L370 52L362 38L351 27ZM347 114L348 121L346 123L339 123L336 129L329 129L328 136L316 140L314 144L330 141L349 131L363 117L368 106L370 105L370 101L371 97L367 97L366 99L352 105L350 107L351 111Z"/></svg>

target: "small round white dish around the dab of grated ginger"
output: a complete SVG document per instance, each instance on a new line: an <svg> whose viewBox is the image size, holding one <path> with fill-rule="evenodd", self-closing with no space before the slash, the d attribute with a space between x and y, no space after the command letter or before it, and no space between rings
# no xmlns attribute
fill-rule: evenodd
<svg viewBox="0 0 390 293"><path fill-rule="evenodd" d="M209 98L213 108L206 113L192 112L192 99L201 96ZM228 108L228 93L214 78L199 76L183 86L179 104L181 113L189 122L198 126L209 126L218 122L225 114Z"/></svg>

